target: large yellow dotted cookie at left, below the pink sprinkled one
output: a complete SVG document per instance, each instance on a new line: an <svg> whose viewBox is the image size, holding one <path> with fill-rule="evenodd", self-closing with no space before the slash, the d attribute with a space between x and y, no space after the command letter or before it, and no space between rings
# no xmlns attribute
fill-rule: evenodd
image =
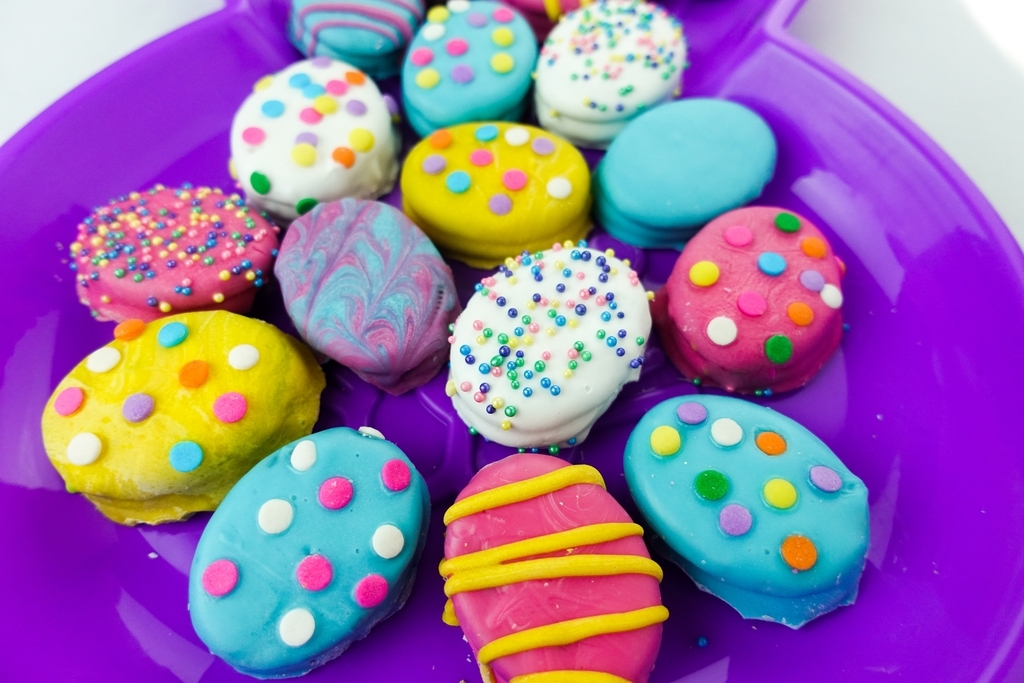
<svg viewBox="0 0 1024 683"><path fill-rule="evenodd" d="M268 323L182 313L125 321L114 337L57 385L43 442L68 490L118 523L213 510L316 421L324 373Z"/></svg>

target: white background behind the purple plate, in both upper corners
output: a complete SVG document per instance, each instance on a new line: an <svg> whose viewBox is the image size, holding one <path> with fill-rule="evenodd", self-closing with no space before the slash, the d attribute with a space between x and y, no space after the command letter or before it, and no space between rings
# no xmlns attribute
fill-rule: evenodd
<svg viewBox="0 0 1024 683"><path fill-rule="evenodd" d="M0 0L0 143L103 67L221 6ZM792 31L937 140L1024 244L1024 0L807 0Z"/></svg>

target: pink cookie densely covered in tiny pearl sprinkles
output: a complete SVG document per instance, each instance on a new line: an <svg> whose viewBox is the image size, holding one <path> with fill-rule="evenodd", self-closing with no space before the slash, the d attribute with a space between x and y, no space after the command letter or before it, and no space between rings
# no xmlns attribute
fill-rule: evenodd
<svg viewBox="0 0 1024 683"><path fill-rule="evenodd" d="M155 185L111 200L78 224L71 267L100 321L248 311L278 254L278 227L238 195Z"/></svg>

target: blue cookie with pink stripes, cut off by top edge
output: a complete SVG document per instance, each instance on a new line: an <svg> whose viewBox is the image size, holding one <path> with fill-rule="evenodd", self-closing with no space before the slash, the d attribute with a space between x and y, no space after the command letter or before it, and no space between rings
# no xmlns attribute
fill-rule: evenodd
<svg viewBox="0 0 1024 683"><path fill-rule="evenodd" d="M423 20L421 0L292 0L288 35L307 57L347 61L381 79L398 73Z"/></svg>

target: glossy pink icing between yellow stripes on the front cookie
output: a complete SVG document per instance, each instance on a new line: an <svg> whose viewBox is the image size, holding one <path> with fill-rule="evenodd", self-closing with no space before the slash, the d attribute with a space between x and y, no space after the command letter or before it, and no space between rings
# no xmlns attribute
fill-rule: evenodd
<svg viewBox="0 0 1024 683"><path fill-rule="evenodd" d="M528 479L568 463L550 456L519 454L477 472L457 500ZM629 514L603 488L574 484L540 498L457 519L444 537L444 557L495 548L587 524L629 522ZM563 556L558 552L539 557ZM572 554L650 557L639 537L583 546ZM624 612L662 604L657 581L641 574L527 581L453 597L456 615L473 652L511 633L582 616ZM492 663L498 683L528 673L601 671L644 683L654 667L662 626L596 636L562 647L545 647Z"/></svg>

